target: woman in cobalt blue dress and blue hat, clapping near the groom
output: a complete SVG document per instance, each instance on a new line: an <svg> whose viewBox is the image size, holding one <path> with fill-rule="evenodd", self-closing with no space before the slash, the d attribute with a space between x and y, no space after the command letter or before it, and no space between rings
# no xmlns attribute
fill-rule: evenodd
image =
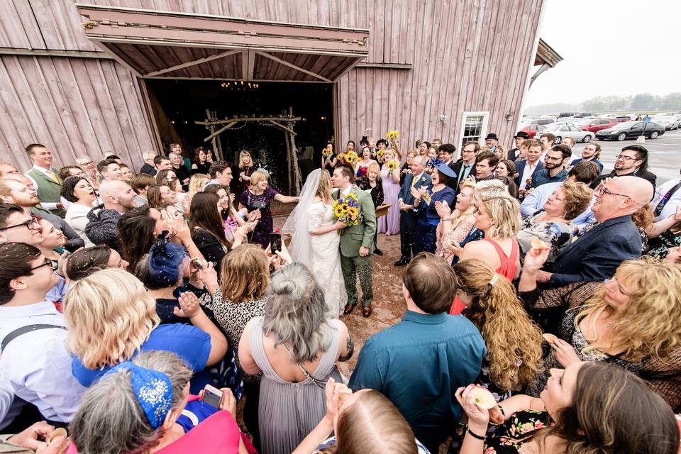
<svg viewBox="0 0 681 454"><path fill-rule="evenodd" d="M420 189L411 188L414 194L414 206L416 207L418 221L414 229L414 255L426 251L435 253L437 228L440 216L435 209L435 202L440 201L454 206L456 194L454 189L448 187L450 179L456 178L456 174L448 165L440 163L433 168L431 184Z"/></svg>

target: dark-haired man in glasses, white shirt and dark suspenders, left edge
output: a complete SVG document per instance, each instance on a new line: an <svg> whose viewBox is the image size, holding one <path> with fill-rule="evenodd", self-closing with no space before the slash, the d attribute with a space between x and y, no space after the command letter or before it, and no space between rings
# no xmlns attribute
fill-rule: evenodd
<svg viewBox="0 0 681 454"><path fill-rule="evenodd" d="M10 230L22 229L27 230ZM67 423L85 388L71 372L64 315L45 299L60 280L53 266L32 245L0 244L0 375L43 418Z"/></svg>

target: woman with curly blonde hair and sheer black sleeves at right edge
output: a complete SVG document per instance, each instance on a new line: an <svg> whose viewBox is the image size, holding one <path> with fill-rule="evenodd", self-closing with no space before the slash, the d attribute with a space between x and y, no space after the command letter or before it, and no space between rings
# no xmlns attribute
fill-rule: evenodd
<svg viewBox="0 0 681 454"><path fill-rule="evenodd" d="M612 279L577 282L539 292L536 272L547 250L526 255L519 284L528 309L564 313L545 370L578 361L602 361L630 370L681 410L681 267L653 260L626 260ZM533 387L543 389L540 375Z"/></svg>

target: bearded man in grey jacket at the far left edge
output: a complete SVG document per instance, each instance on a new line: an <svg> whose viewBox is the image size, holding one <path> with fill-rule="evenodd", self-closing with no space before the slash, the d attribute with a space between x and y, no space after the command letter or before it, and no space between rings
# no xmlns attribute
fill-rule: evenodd
<svg viewBox="0 0 681 454"><path fill-rule="evenodd" d="M40 206L40 199L35 193L31 179L26 175L20 173L5 175L4 179L0 181L0 201L6 204L17 204L23 209L26 215L37 215L52 223L55 228L62 231L64 236L69 240L66 249L70 252L82 248L85 245L78 233L59 216L51 214Z"/></svg>

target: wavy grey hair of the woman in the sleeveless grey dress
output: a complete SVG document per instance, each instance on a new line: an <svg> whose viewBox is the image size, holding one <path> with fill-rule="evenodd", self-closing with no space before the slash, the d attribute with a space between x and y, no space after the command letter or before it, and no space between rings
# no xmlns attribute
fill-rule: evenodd
<svg viewBox="0 0 681 454"><path fill-rule="evenodd" d="M262 332L272 336L275 345L290 343L293 362L314 361L331 347L324 291L305 265L294 262L272 275L265 296Z"/></svg>

